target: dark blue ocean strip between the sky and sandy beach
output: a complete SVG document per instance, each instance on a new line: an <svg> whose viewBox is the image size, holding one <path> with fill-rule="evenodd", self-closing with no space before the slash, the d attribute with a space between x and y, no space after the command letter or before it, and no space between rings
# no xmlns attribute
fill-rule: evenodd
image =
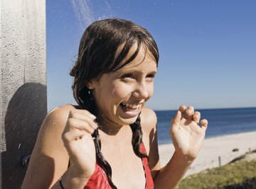
<svg viewBox="0 0 256 189"><path fill-rule="evenodd" d="M256 131L256 108L221 108L198 110L208 120L206 138ZM159 144L171 143L171 118L176 110L156 110ZM255 136L256 137L256 136Z"/></svg>

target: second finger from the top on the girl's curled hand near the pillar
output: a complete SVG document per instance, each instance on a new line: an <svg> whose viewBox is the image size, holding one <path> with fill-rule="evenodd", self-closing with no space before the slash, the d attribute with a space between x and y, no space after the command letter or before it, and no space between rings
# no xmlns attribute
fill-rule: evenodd
<svg viewBox="0 0 256 189"><path fill-rule="evenodd" d="M97 129L97 124L93 121L78 120L75 118L69 118L68 130L85 130L86 132L93 133Z"/></svg>

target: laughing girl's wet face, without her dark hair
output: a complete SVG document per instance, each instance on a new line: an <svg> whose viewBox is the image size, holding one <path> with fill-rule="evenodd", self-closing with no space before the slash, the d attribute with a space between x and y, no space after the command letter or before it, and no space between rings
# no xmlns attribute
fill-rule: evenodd
<svg viewBox="0 0 256 189"><path fill-rule="evenodd" d="M127 58L136 49L137 45L133 45ZM153 94L156 70L154 58L142 46L137 57L122 69L90 82L97 109L107 124L130 125L135 122Z"/></svg>

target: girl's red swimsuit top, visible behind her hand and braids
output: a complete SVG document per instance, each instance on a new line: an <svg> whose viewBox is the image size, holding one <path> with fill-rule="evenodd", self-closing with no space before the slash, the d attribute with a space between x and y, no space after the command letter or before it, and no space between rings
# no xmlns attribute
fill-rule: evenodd
<svg viewBox="0 0 256 189"><path fill-rule="evenodd" d="M139 150L142 152L142 154L146 154L146 149L143 142L139 146ZM142 165L146 178L145 189L154 189L154 181L151 176L148 163L148 159L142 158ZM112 189L110 183L107 180L107 174L98 164L96 164L95 172L90 177L84 189Z"/></svg>

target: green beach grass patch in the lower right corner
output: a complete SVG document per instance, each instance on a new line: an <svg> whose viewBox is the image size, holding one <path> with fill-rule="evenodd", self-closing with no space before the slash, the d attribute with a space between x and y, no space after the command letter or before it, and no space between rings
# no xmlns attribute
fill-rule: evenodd
<svg viewBox="0 0 256 189"><path fill-rule="evenodd" d="M256 159L238 160L196 173L181 181L178 189L256 188Z"/></svg>

